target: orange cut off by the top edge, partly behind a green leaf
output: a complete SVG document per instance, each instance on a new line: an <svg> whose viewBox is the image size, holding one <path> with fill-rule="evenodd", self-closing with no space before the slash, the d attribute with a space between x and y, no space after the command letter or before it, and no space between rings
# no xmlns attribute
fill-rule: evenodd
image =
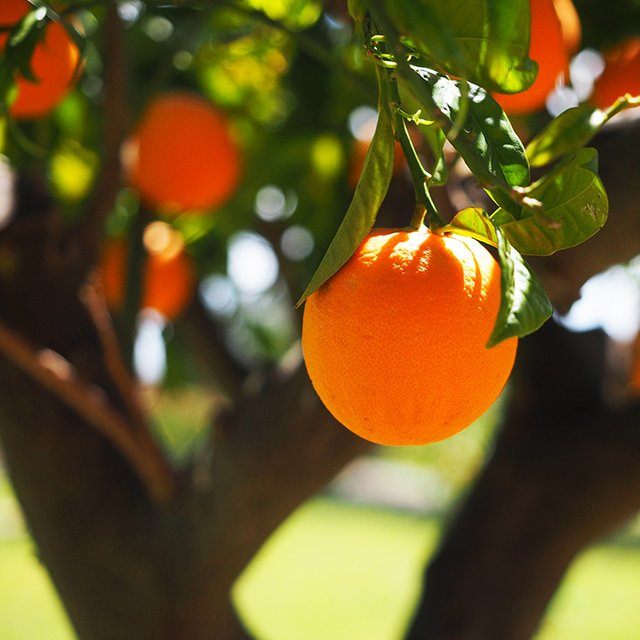
<svg viewBox="0 0 640 640"><path fill-rule="evenodd" d="M580 40L580 19L571 0L531 0L529 57L538 63L538 75L524 91L496 93L500 106L513 115L544 107L559 76L569 70L569 58Z"/></svg>

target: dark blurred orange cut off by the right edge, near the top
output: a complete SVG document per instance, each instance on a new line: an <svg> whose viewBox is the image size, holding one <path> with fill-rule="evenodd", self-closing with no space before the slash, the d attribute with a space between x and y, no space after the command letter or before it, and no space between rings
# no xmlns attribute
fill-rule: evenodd
<svg viewBox="0 0 640 640"><path fill-rule="evenodd" d="M640 95L640 38L628 38L604 55L605 67L593 87L591 102L610 107L620 96Z"/></svg>

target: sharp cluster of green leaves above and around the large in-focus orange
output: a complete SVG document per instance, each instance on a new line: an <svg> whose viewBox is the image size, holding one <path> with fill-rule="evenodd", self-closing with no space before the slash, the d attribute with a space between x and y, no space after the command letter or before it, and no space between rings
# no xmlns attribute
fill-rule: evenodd
<svg viewBox="0 0 640 640"><path fill-rule="evenodd" d="M522 91L535 79L528 0L360 0L350 6L367 54L382 70L378 127L353 202L300 302L346 262L375 223L391 178L389 148L394 137L406 142L406 128L398 124L404 119L425 132L435 157L433 167L422 168L402 144L423 213L411 226L426 215L434 231L496 248L502 301L490 345L535 331L552 307L523 256L573 247L604 225L608 202L597 154L584 145L634 100L608 112L588 106L567 111L525 148L492 92ZM428 190L446 180L445 141L495 209L469 208L442 221ZM530 167L551 162L532 181Z"/></svg>

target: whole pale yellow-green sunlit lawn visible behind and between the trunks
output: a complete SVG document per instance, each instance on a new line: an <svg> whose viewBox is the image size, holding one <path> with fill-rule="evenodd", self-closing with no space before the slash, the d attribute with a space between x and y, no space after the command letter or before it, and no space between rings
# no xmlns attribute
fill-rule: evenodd
<svg viewBox="0 0 640 640"><path fill-rule="evenodd" d="M242 576L236 602L260 640L399 640L438 531L437 521L406 512L313 500ZM639 637L639 597L640 550L594 547L536 640ZM73 638L1 482L0 638Z"/></svg>

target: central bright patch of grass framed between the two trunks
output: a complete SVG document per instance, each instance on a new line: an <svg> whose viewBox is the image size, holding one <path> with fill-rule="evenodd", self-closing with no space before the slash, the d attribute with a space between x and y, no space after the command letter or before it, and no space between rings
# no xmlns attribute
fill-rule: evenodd
<svg viewBox="0 0 640 640"><path fill-rule="evenodd" d="M436 535L432 521L315 500L262 549L235 599L260 640L399 640Z"/></svg>

